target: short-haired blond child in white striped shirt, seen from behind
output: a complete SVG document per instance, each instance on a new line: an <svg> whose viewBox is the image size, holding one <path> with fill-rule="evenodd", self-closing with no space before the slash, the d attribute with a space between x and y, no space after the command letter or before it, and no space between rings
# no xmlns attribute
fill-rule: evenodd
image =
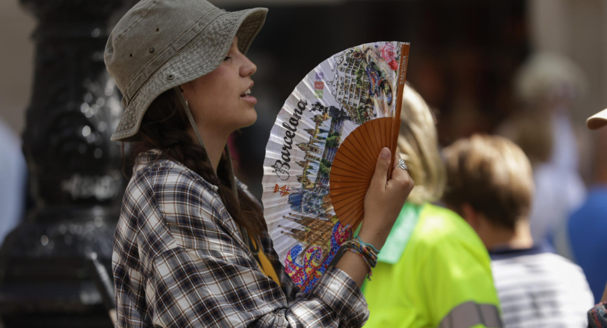
<svg viewBox="0 0 607 328"><path fill-rule="evenodd" d="M444 201L489 250L504 327L586 327L593 298L582 269L534 245L534 181L521 148L497 135L473 135L443 154Z"/></svg>

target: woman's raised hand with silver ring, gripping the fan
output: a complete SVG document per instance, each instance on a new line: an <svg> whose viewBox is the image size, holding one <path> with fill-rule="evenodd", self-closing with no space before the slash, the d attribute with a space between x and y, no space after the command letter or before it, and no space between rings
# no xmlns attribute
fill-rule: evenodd
<svg viewBox="0 0 607 328"><path fill-rule="evenodd" d="M378 250L384 246L402 205L413 189L413 180L407 170L396 167L399 159L400 156L396 154L395 163L392 163L392 179L387 180L390 149L381 150L375 174L365 196L365 216L359 237Z"/></svg>

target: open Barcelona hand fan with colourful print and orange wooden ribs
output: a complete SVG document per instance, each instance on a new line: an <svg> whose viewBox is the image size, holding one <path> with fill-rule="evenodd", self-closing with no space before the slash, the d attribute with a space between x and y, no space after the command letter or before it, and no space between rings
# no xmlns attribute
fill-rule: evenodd
<svg viewBox="0 0 607 328"><path fill-rule="evenodd" d="M304 292L361 222L379 151L395 154L408 57L400 42L339 52L297 84L276 118L263 165L265 219Z"/></svg>

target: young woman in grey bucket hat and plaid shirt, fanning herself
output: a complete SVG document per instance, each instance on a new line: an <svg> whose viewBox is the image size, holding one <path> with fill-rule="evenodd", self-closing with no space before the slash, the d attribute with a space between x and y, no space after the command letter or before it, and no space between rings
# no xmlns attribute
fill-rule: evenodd
<svg viewBox="0 0 607 328"><path fill-rule="evenodd" d="M266 9L142 0L107 43L126 111L113 140L134 142L112 259L120 327L359 327L368 265L353 251L296 294L262 208L234 179L226 140L256 121L245 56ZM361 241L381 248L413 182L386 179L383 149ZM402 168L402 166L399 166Z"/></svg>

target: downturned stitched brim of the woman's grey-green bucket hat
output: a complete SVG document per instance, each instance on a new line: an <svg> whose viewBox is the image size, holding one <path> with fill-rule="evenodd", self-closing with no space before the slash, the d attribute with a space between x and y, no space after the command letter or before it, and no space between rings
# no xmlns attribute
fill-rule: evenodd
<svg viewBox="0 0 607 328"><path fill-rule="evenodd" d="M123 116L111 137L113 141L137 141L141 120L149 105L160 94L176 86L195 80L219 67L238 37L240 52L246 53L265 22L268 9L254 8L238 12L223 12L197 33L176 55L154 72L126 106ZM214 33L215 38L205 38ZM214 58L202 58L212 53Z"/></svg>

